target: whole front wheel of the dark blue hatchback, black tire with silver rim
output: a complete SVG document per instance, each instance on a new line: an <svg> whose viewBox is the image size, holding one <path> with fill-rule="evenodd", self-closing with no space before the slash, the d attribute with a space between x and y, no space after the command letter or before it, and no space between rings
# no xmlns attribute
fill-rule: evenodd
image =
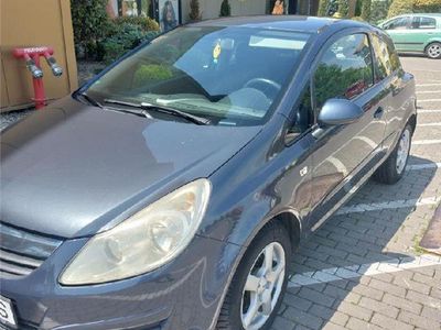
<svg viewBox="0 0 441 330"><path fill-rule="evenodd" d="M272 273L268 273L265 262L271 251ZM291 253L291 242L284 226L275 222L267 224L249 244L240 261L224 299L216 329L269 329L287 289ZM277 275L279 271L281 273ZM246 285L249 285L249 289L246 289ZM255 317L250 309L252 306L257 307L252 309L256 310Z"/></svg>

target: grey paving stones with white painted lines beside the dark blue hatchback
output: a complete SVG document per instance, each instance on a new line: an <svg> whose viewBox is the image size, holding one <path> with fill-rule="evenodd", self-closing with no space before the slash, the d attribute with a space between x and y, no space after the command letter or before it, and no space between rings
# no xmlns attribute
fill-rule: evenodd
<svg viewBox="0 0 441 330"><path fill-rule="evenodd" d="M419 100L407 172L369 180L302 244L272 330L441 329L441 258L418 248L441 201L440 61L401 63Z"/></svg>

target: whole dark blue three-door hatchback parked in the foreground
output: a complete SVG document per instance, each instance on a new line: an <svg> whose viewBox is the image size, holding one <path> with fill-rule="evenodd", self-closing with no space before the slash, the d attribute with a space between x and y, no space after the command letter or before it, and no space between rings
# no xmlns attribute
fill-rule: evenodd
<svg viewBox="0 0 441 330"><path fill-rule="evenodd" d="M416 120L367 24L178 28L1 135L0 319L268 329L295 248L372 175L404 175Z"/></svg>

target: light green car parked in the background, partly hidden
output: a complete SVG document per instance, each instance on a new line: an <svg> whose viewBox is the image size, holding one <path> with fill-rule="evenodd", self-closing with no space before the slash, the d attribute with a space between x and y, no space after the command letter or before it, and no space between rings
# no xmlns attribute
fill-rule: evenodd
<svg viewBox="0 0 441 330"><path fill-rule="evenodd" d="M398 53L423 53L441 58L441 13L395 16L379 24L392 38Z"/></svg>

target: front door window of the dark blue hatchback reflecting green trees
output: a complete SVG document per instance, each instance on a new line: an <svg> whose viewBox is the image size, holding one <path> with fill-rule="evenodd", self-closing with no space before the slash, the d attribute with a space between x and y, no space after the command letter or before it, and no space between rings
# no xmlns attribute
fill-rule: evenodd
<svg viewBox="0 0 441 330"><path fill-rule="evenodd" d="M353 99L373 85L373 59L366 34L346 35L322 56L314 74L316 109L327 99Z"/></svg>

